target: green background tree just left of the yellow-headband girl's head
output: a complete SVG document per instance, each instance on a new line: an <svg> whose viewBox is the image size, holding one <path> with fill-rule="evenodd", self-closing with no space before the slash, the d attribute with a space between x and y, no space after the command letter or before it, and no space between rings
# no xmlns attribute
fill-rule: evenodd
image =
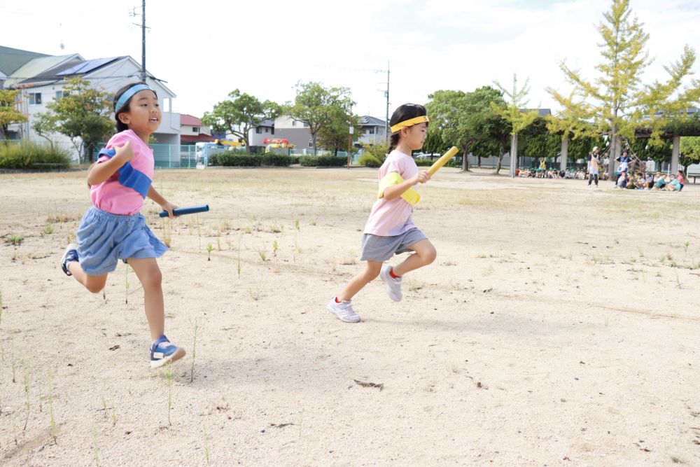
<svg viewBox="0 0 700 467"><path fill-rule="evenodd" d="M306 123L311 133L311 144L316 154L318 133L332 126L334 119L342 113L347 116L350 106L355 104L349 88L324 88L321 83L297 83L297 95L289 109L292 118ZM330 130L329 130L330 131Z"/></svg>

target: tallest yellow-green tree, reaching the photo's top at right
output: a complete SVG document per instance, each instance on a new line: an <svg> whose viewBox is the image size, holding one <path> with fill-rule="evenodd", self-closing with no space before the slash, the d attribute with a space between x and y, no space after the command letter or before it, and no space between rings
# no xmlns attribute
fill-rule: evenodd
<svg viewBox="0 0 700 467"><path fill-rule="evenodd" d="M619 155L620 139L632 139L635 130L644 126L650 128L650 142L661 144L664 125L671 118L685 118L682 113L700 98L700 86L698 81L693 81L689 88L682 89L682 80L695 61L694 51L687 46L678 62L665 67L670 75L666 83L643 85L643 71L652 62L644 50L649 34L643 31L636 17L631 18L629 0L613 0L603 18L605 23L598 25L603 39L598 44L603 56L595 67L598 76L587 81L580 71L561 62L559 68L574 85L573 94L566 97L552 88L547 88L547 92L576 118L591 124L587 134L608 136L611 145L608 173L613 179L612 160Z"/></svg>

